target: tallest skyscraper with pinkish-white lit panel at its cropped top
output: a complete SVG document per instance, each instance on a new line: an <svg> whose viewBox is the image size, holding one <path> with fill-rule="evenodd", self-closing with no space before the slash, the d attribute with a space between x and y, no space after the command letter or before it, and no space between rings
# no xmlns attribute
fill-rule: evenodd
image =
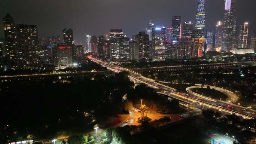
<svg viewBox="0 0 256 144"><path fill-rule="evenodd" d="M236 11L236 0L224 0L225 2L225 13L223 16L222 24L222 52L230 52L235 46L235 29L237 24L237 17L235 16Z"/></svg>

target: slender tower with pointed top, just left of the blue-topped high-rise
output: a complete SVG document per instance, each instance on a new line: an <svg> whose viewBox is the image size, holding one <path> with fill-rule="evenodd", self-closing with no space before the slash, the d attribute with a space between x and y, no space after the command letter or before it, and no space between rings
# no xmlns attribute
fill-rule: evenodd
<svg viewBox="0 0 256 144"><path fill-rule="evenodd" d="M151 20L146 30L146 34L149 35L149 61L155 61L155 25Z"/></svg>

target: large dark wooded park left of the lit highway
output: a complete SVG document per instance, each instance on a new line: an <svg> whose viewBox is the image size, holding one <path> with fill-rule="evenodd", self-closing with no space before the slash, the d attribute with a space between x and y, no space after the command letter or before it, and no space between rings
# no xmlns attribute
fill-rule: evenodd
<svg viewBox="0 0 256 144"><path fill-rule="evenodd" d="M122 96L132 86L125 73L3 81L0 143L84 134L96 123L108 126L118 114L127 113Z"/></svg>

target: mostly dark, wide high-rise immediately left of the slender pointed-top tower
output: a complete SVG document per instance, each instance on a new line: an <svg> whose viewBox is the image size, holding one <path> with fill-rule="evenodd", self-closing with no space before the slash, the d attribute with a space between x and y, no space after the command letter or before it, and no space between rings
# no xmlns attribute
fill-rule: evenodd
<svg viewBox="0 0 256 144"><path fill-rule="evenodd" d="M135 37L135 60L149 62L149 35L144 31L139 32Z"/></svg>

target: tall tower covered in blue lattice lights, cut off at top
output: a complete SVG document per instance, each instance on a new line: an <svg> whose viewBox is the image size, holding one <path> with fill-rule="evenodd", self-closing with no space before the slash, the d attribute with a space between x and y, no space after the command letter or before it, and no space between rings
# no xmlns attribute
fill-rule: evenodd
<svg viewBox="0 0 256 144"><path fill-rule="evenodd" d="M204 36L205 27L205 0L198 0L196 10L196 23L195 27L202 30L202 36Z"/></svg>

